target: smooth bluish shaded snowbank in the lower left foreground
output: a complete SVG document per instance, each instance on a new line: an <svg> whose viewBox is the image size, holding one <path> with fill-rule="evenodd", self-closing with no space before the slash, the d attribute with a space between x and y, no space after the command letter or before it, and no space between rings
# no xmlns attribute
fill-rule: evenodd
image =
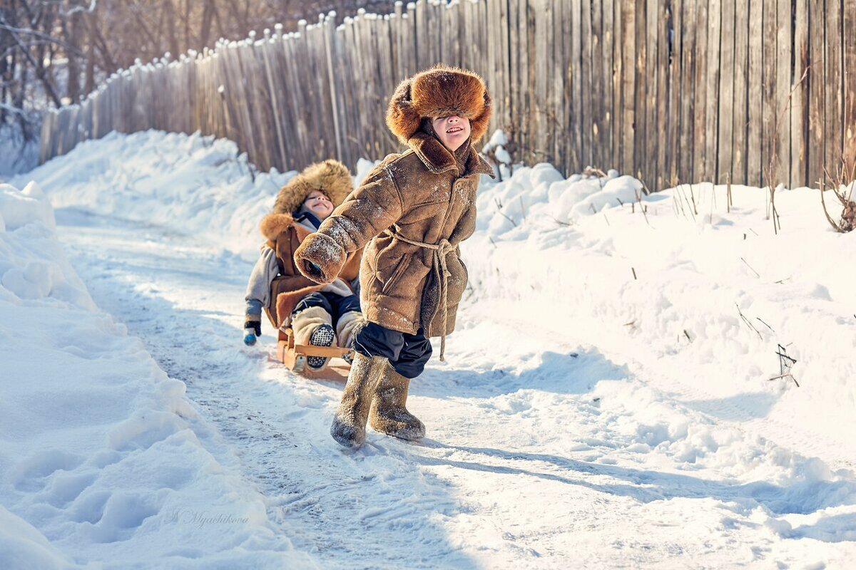
<svg viewBox="0 0 856 570"><path fill-rule="evenodd" d="M0 185L0 567L312 567L53 227L38 185Z"/></svg>

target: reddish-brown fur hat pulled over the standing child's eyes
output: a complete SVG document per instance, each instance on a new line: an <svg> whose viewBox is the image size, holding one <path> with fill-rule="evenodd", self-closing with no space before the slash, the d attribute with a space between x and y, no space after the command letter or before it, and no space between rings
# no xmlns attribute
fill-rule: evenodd
<svg viewBox="0 0 856 570"><path fill-rule="evenodd" d="M401 81L386 111L386 125L403 144L419 131L424 117L461 115L470 120L473 143L490 123L490 95L471 71L438 64Z"/></svg>

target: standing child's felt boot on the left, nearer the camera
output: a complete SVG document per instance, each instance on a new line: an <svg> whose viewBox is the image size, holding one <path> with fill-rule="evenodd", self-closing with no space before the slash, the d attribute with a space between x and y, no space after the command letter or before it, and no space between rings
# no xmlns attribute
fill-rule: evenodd
<svg viewBox="0 0 856 570"><path fill-rule="evenodd" d="M354 364L342 392L342 402L336 410L330 435L339 444L358 448L366 442L366 420L372 406L377 378L389 361L383 356L365 356L354 353Z"/></svg>

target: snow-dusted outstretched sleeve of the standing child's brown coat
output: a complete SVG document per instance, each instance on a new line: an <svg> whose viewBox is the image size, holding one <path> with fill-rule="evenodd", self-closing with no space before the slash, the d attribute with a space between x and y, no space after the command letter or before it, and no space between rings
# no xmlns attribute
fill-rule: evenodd
<svg viewBox="0 0 856 570"><path fill-rule="evenodd" d="M333 210L318 232L303 240L294 251L300 273L316 283L330 283L342 270L348 253L401 218L401 192L389 170L380 165L368 173L363 184Z"/></svg>

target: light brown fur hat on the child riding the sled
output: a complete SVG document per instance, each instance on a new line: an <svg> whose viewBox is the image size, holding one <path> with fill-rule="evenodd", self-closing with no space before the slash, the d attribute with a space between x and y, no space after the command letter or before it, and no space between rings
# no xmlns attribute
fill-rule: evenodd
<svg viewBox="0 0 856 570"><path fill-rule="evenodd" d="M311 164L279 189L274 214L294 213L313 190L324 192L336 208L354 190L354 180L342 162L330 159Z"/></svg>

